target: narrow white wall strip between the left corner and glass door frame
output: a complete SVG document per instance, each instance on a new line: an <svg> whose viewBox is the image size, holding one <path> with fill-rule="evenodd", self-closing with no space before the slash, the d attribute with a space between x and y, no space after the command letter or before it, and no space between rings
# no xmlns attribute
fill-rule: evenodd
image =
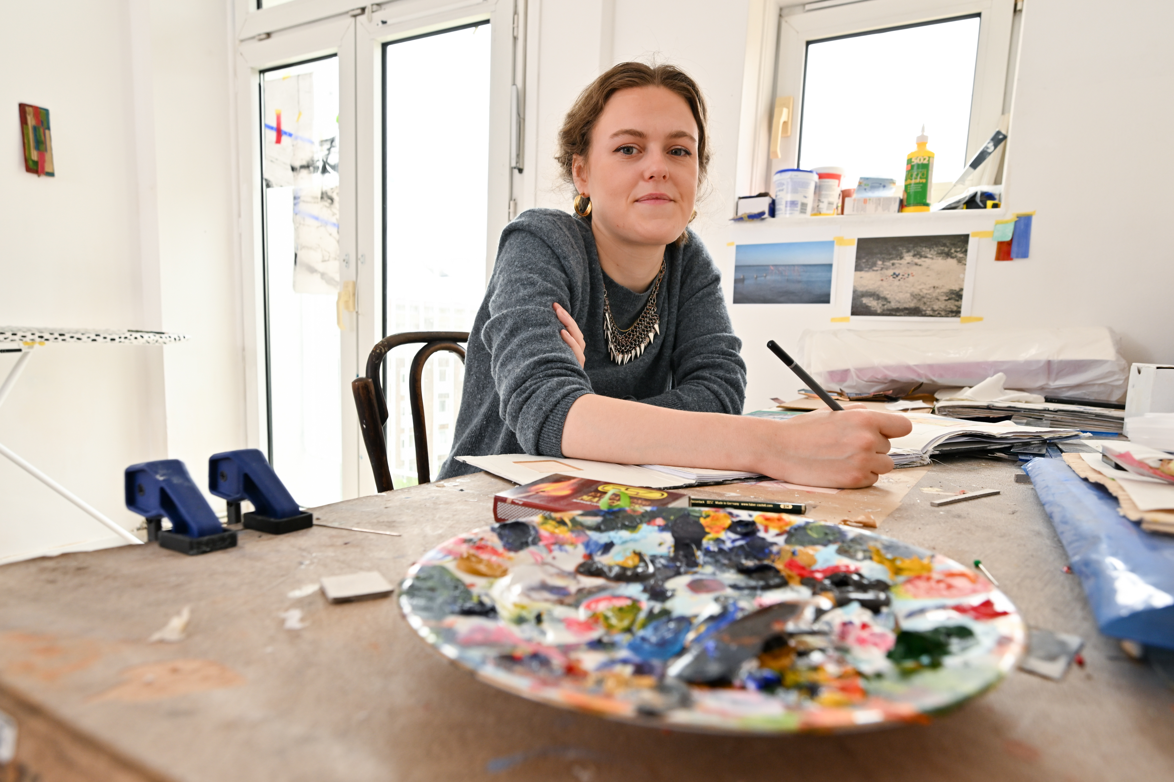
<svg viewBox="0 0 1174 782"><path fill-rule="evenodd" d="M164 353L168 456L202 488L209 456L247 446L230 11L150 2L162 327L191 336Z"/></svg>

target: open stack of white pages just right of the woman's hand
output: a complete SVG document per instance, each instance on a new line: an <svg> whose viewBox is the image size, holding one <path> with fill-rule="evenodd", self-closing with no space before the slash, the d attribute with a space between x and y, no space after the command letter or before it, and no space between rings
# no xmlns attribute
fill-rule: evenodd
<svg viewBox="0 0 1174 782"><path fill-rule="evenodd" d="M937 454L981 450L1005 450L1012 446L1046 443L1079 437L1077 429L1024 427L1011 422L984 423L962 421L943 415L905 414L913 430L890 441L889 456L897 467L929 464Z"/></svg>

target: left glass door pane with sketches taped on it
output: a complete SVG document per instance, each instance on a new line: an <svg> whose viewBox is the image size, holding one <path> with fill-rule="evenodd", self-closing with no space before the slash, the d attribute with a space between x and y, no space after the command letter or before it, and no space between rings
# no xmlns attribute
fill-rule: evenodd
<svg viewBox="0 0 1174 782"><path fill-rule="evenodd" d="M343 498L338 55L261 74L269 460L305 506Z"/></svg>

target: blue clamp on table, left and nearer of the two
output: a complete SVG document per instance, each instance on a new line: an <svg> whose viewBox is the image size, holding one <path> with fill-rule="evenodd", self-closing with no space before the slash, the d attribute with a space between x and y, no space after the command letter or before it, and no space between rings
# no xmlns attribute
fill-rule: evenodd
<svg viewBox="0 0 1174 782"><path fill-rule="evenodd" d="M147 517L147 539L187 555L236 545L236 532L221 526L188 468L177 458L131 464L126 471L127 508ZM164 531L163 517L171 521Z"/></svg>

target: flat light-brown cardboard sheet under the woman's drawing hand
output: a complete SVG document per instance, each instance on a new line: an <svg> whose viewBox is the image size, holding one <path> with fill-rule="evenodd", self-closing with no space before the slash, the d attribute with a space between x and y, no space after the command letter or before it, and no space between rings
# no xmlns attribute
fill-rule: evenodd
<svg viewBox="0 0 1174 782"><path fill-rule="evenodd" d="M754 481L689 489L689 496L703 499L765 499L807 503L809 518L852 526L875 528L897 510L909 490L929 472L915 467L886 472L866 489L823 489L799 487L783 481Z"/></svg>

